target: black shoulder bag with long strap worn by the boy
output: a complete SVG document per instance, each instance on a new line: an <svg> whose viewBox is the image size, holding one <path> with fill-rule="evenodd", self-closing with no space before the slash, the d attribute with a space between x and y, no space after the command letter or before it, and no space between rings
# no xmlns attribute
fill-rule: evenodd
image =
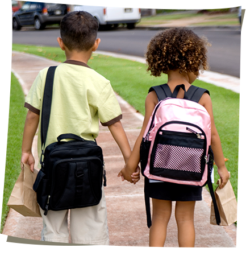
<svg viewBox="0 0 246 256"><path fill-rule="evenodd" d="M55 69L48 69L45 81L41 115L41 169L33 186L44 215L48 210L97 205L102 198L103 178L103 185L106 186L102 148L95 141L85 141L75 134L61 134L57 142L49 144L44 151ZM73 140L65 142L62 139Z"/></svg>

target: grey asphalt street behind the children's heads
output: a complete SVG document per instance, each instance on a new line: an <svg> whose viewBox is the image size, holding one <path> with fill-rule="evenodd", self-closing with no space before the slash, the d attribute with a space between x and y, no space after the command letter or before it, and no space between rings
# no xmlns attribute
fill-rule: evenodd
<svg viewBox="0 0 246 256"><path fill-rule="evenodd" d="M209 49L210 69L226 75L242 78L243 35L239 28L232 29L198 29L198 35L205 35L212 46ZM99 31L101 38L99 50L124 53L144 57L149 40L159 32L157 30L119 28L110 31ZM57 47L59 28L47 28L36 31L33 27L21 31L0 30L0 42L34 44L38 46Z"/></svg>

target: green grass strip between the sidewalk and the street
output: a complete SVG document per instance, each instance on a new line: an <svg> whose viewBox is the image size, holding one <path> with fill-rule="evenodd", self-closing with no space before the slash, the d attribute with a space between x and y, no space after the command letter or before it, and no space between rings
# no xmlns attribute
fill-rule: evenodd
<svg viewBox="0 0 246 256"><path fill-rule="evenodd" d="M33 53L56 61L65 60L64 52L56 47L36 47L0 43L0 48ZM150 76L146 71L146 65L137 63L136 61L122 60L94 54L88 64L98 73L109 79L115 92L119 93L124 100L129 102L143 115L144 101L148 89L151 86L164 84L167 81L165 75L162 75L161 77ZM231 90L207 84L199 80L195 81L194 85L210 90L214 108L215 124L222 141L224 157L229 159L226 162L226 166L228 171L231 172L231 183L234 187L241 215L243 215L243 96L239 93L232 92ZM2 102L0 102L0 105L1 104ZM1 114L5 117L7 113L9 112ZM22 122L22 129L23 125L24 123ZM18 148L20 151L20 144L15 146L15 148ZM7 155L3 156L3 158L7 158ZM16 161L19 164L19 155L18 157L16 156ZM16 171L19 172L19 170ZM5 171L3 170L3 172ZM216 174L215 182L218 180L218 177L218 174ZM8 178L9 172L5 172L5 179ZM9 197L9 195L10 191L6 191L3 197ZM236 226L243 230L243 221L237 221Z"/></svg>

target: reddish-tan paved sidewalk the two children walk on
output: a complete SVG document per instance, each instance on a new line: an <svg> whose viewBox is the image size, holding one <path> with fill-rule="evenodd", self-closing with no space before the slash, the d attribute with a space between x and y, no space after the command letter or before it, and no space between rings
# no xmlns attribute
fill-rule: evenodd
<svg viewBox="0 0 246 256"><path fill-rule="evenodd" d="M127 56L124 55L124 57ZM1 49L0 62L18 77L25 94L28 93L40 69L50 65L57 65L55 61L42 57ZM207 77L209 77L209 73ZM241 80L238 81L240 88ZM241 91L242 85L241 81ZM143 116L136 113L136 110L122 98L117 97L123 112L122 124L131 147L133 147L143 123ZM105 194L110 250L148 250L149 229L147 228L145 217L144 179L141 177L141 180L136 185L133 185L127 181L122 182L117 177L120 168L124 166L124 160L107 128L100 126L97 142L103 148L106 162L107 187L105 188ZM34 155L37 162L35 146ZM243 238L234 225L229 227L210 225L210 204L211 197L204 188L203 201L198 201L195 208L195 250L243 250ZM38 246L36 245L7 243L6 239L7 236L14 236L40 240L42 226L41 218L23 217L10 209L5 229L1 236L0 250L37 250ZM168 226L168 237L164 249L178 250L177 226L174 216L172 216Z"/></svg>

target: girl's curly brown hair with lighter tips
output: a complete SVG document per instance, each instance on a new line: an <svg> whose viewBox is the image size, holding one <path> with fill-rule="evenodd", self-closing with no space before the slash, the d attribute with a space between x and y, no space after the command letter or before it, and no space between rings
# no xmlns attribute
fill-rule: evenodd
<svg viewBox="0 0 246 256"><path fill-rule="evenodd" d="M148 44L147 71L160 76L169 70L180 69L180 73L209 69L207 63L207 38L199 37L187 28L169 28L157 34Z"/></svg>

